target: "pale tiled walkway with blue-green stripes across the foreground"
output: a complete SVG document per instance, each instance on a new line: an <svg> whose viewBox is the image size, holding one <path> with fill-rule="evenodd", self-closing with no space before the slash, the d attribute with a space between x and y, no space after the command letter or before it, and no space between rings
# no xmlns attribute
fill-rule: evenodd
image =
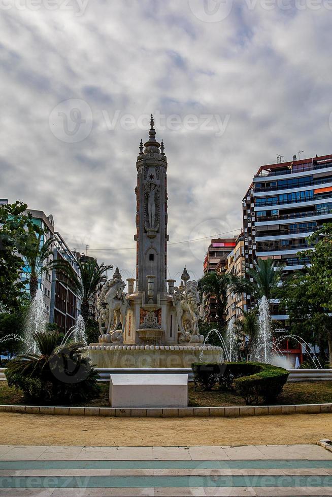
<svg viewBox="0 0 332 497"><path fill-rule="evenodd" d="M332 453L317 445L0 446L0 495L332 495Z"/></svg>

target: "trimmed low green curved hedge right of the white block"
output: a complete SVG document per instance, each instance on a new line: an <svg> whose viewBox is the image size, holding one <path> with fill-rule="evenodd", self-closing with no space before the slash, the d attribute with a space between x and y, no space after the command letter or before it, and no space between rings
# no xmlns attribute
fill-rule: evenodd
<svg viewBox="0 0 332 497"><path fill-rule="evenodd" d="M211 390L218 382L221 389L236 390L247 405L257 404L259 399L265 403L273 402L289 374L286 369L255 362L193 363L192 370L195 387L200 385Z"/></svg>

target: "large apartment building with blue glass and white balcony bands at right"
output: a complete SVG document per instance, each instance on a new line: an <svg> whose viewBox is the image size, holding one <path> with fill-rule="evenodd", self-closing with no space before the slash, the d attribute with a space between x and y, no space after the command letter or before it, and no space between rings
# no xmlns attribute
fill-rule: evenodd
<svg viewBox="0 0 332 497"><path fill-rule="evenodd" d="M261 166L242 204L246 268L258 258L274 259L285 275L303 268L308 237L332 220L332 155ZM287 328L277 301L273 318Z"/></svg>

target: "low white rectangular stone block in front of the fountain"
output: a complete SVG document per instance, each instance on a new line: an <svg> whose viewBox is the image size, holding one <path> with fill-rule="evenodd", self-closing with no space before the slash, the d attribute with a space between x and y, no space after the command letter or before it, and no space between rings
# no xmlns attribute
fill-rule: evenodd
<svg viewBox="0 0 332 497"><path fill-rule="evenodd" d="M187 374L111 374L110 406L187 407Z"/></svg>

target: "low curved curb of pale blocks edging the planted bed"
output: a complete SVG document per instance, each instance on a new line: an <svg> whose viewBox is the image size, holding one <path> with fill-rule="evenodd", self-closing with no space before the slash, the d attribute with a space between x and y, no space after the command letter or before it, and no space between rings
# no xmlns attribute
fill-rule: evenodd
<svg viewBox="0 0 332 497"><path fill-rule="evenodd" d="M188 417L264 416L273 414L319 414L332 412L332 404L286 406L181 407L160 409L114 409L112 407L0 406L0 412L61 416Z"/></svg>

